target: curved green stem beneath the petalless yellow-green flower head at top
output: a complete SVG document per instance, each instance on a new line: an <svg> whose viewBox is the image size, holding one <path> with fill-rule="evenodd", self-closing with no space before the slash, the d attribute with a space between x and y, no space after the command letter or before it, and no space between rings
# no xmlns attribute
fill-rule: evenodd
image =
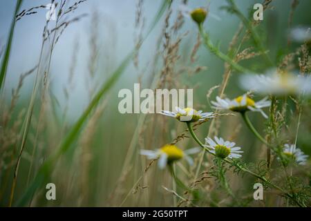
<svg viewBox="0 0 311 221"><path fill-rule="evenodd" d="M220 59L223 59L223 61L227 62L230 66L232 66L234 69L238 70L238 72L241 73L247 73L250 72L246 68L243 68L243 66L236 63L236 61L232 60L230 57L225 55L223 52L221 52L209 39L209 36L207 35L207 32L203 29L202 23L198 26L200 35L203 39L203 43L207 49L209 49L214 55L219 57Z"/></svg>

